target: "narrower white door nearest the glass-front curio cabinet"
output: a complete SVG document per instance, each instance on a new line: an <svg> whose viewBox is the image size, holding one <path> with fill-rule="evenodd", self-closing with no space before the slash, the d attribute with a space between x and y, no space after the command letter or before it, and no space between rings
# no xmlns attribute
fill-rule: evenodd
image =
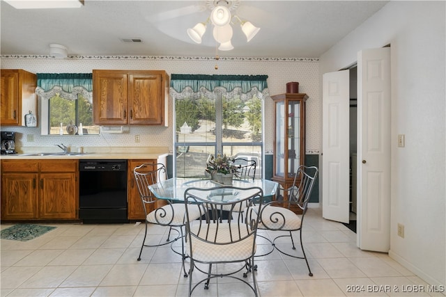
<svg viewBox="0 0 446 297"><path fill-rule="evenodd" d="M323 74L322 216L348 223L349 70Z"/></svg>

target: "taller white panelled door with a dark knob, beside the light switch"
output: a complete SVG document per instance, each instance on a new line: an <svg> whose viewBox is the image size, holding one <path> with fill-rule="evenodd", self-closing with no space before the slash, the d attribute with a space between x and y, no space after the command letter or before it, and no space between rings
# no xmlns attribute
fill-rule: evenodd
<svg viewBox="0 0 446 297"><path fill-rule="evenodd" d="M357 76L357 246L388 252L390 47L360 51Z"/></svg>

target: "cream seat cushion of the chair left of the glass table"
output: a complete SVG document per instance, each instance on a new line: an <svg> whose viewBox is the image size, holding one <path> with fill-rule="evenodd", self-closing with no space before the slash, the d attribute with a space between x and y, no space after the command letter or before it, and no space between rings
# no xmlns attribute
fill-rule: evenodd
<svg viewBox="0 0 446 297"><path fill-rule="evenodd" d="M186 209L183 203L167 204L163 207L151 211L146 220L148 223L169 226L183 226L185 225ZM190 220L197 220L200 217L198 207L189 207Z"/></svg>

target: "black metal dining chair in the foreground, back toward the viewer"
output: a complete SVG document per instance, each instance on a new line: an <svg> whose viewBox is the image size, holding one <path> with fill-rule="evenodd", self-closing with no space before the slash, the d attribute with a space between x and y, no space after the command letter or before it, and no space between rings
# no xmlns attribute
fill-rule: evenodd
<svg viewBox="0 0 446 297"><path fill-rule="evenodd" d="M247 273L255 269L254 254L256 252L256 233L259 223L258 214L263 199L263 191L259 187L236 188L222 186L216 188L187 188L184 194L186 209L186 253L190 257L189 296L203 282L208 289L212 278L234 278L247 284L257 296L256 275L252 273L252 283ZM254 206L253 202L260 203ZM240 204L248 203L245 219L241 219ZM194 211L200 209L198 219L194 219ZM228 209L222 211L222 209ZM192 210L192 212L191 212ZM221 218L222 214L224 217ZM217 264L238 263L231 271ZM202 268L207 264L208 271ZM206 278L194 282L194 270L207 275ZM246 269L243 278L236 275ZM192 284L194 286L192 287Z"/></svg>

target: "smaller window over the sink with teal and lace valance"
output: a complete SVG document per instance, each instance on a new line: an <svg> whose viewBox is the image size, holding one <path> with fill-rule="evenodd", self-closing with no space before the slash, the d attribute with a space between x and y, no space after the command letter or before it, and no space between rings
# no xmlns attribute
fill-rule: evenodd
<svg viewBox="0 0 446 297"><path fill-rule="evenodd" d="M37 74L41 134L99 134L93 124L92 74ZM61 129L62 128L62 129Z"/></svg>

